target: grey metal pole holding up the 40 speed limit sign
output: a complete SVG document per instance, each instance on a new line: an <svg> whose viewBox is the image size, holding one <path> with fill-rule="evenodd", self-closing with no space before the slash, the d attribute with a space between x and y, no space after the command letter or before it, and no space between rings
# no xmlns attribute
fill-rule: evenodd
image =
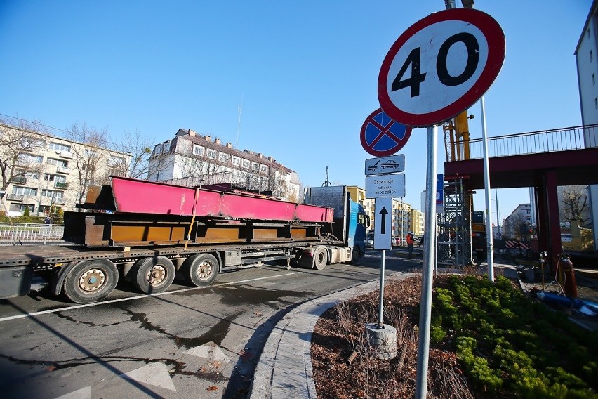
<svg viewBox="0 0 598 399"><path fill-rule="evenodd" d="M427 361L430 355L430 321L432 319L432 273L434 272L434 249L436 248L436 152L437 126L427 127L427 171L425 200L426 240L422 266L422 296L420 299L420 333L418 343L418 369L416 375L416 398L425 399L427 393Z"/></svg>

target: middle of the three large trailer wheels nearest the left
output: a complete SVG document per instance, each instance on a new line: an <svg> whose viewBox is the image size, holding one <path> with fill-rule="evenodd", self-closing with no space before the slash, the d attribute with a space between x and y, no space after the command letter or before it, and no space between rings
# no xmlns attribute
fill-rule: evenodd
<svg viewBox="0 0 598 399"><path fill-rule="evenodd" d="M152 256L135 262L131 268L133 284L145 294L166 291L173 283L176 269L166 256Z"/></svg>

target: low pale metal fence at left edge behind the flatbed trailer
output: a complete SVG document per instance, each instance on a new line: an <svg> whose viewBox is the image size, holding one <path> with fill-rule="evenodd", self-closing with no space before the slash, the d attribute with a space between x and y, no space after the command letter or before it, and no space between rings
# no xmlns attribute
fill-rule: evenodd
<svg viewBox="0 0 598 399"><path fill-rule="evenodd" d="M34 223L0 223L0 245L67 244L65 226Z"/></svg>

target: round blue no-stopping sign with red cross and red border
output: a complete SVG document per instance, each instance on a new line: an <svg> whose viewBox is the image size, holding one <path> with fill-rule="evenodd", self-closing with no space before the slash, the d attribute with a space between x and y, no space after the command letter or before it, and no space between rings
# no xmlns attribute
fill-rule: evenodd
<svg viewBox="0 0 598 399"><path fill-rule="evenodd" d="M361 126L361 146L374 157L387 157L399 151L411 136L411 127L399 124L378 108Z"/></svg>

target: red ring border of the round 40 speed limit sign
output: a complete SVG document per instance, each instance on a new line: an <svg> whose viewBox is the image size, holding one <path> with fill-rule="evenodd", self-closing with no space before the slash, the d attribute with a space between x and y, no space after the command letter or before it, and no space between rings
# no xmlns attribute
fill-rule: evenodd
<svg viewBox="0 0 598 399"><path fill-rule="evenodd" d="M390 65L394 60L394 56L397 55L401 46L403 46L408 39L411 39L413 35L420 32L420 30L437 22L448 20L462 20L468 22L477 27L484 34L486 41L488 41L488 60L486 60L484 70L482 70L479 78L473 84L471 89L451 105L425 114L413 114L411 112L399 110L399 108L397 108L397 106L390 100L386 87L388 72L390 71ZM397 39L397 41L390 47L390 50L384 58L382 67L380 68L380 74L378 75L378 101L380 102L380 107L382 107L389 117L401 124L406 124L407 126L424 127L439 124L458 115L479 100L479 98L481 98L493 84L496 77L498 77L498 72L500 72L500 68L503 67L504 60L505 33L500 25L498 25L498 22L496 22L490 15L475 10L474 8L451 8L449 10L430 14L411 25L411 27L403 32L403 34L399 36L399 39Z"/></svg>

